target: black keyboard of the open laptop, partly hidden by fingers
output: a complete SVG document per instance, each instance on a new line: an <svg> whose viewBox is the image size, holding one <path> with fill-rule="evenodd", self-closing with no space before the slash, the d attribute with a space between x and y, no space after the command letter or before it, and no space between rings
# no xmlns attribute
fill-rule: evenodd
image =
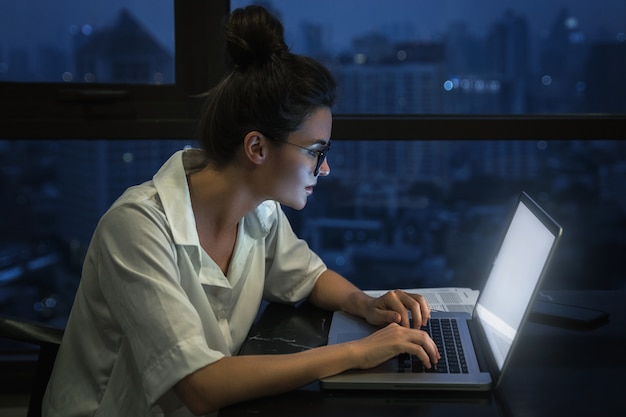
<svg viewBox="0 0 626 417"><path fill-rule="evenodd" d="M417 356L404 353L398 355L398 372L467 373L467 362L456 320L431 318L422 330L428 332L437 344L441 359L428 369Z"/></svg>

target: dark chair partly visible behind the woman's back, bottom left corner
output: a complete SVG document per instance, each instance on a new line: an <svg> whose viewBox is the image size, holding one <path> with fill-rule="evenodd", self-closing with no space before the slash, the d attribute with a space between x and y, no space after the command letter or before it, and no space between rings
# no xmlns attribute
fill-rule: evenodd
<svg viewBox="0 0 626 417"><path fill-rule="evenodd" d="M0 337L39 345L27 417L40 417L41 402L63 338L63 329L10 317L0 317Z"/></svg>

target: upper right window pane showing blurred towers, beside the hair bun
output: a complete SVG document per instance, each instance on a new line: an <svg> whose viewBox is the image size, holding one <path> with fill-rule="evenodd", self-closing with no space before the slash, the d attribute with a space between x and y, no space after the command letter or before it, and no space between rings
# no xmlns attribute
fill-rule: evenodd
<svg viewBox="0 0 626 417"><path fill-rule="evenodd" d="M250 1L334 72L338 114L626 112L626 3Z"/></svg>

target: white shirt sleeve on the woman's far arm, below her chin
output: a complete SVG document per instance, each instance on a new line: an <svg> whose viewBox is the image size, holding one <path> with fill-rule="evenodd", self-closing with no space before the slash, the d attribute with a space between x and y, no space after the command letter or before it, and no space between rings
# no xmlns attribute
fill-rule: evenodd
<svg viewBox="0 0 626 417"><path fill-rule="evenodd" d="M317 279L327 268L309 245L294 233L278 203L266 239L264 297L269 301L284 303L296 303L308 297Z"/></svg>

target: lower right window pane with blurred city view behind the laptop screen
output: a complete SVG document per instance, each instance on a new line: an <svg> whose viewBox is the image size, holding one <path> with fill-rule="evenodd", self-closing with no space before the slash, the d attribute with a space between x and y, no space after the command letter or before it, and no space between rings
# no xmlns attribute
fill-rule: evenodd
<svg viewBox="0 0 626 417"><path fill-rule="evenodd" d="M362 288L479 288L517 194L564 228L545 283L622 288L626 142L336 141L297 233Z"/></svg>

